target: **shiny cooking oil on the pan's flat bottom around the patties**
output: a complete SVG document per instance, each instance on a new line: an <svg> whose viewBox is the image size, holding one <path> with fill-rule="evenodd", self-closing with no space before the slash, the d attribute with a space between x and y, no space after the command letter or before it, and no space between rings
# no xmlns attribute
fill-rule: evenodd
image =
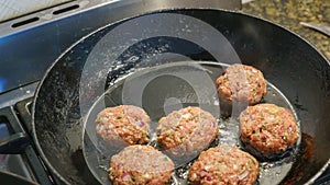
<svg viewBox="0 0 330 185"><path fill-rule="evenodd" d="M136 70L134 73L119 77L120 80L111 82L108 91L95 103L86 118L86 125L94 129L96 115L105 106L117 106L121 104L133 104L143 107L150 115L152 123L150 143L162 150L156 142L155 128L161 117L166 116L175 109L187 106L200 106L202 109L210 112L218 118L219 135L210 147L218 144L235 146L244 150L239 136L239 123L237 117L222 117L220 114L221 106L215 81L223 72L228 65L219 62L184 61L157 67L144 68ZM193 72L193 73L191 73ZM196 78L196 73L197 77ZM190 77L190 74L194 74ZM205 76L206 74L206 76ZM194 82L194 81L197 81ZM142 88L141 91L132 91L135 88ZM138 95L136 95L138 92ZM140 99L140 100L138 100ZM168 102L168 100L170 100ZM263 99L264 103L273 103L290 109L295 116L295 109L284 94L272 83L267 83L267 94ZM296 119L298 120L297 116ZM298 122L299 124L299 122ZM88 126L86 127L88 129ZM88 135L89 132L89 135ZM95 135L95 130L85 131L84 155L85 160L101 184L111 184L108 180L107 169L111 155L118 153L121 149L109 148ZM290 171L295 155L298 152L300 139L290 153L283 158L267 161L260 160L260 176L256 184L279 184ZM170 184L188 184L187 176L189 167L196 157L187 161L175 161L176 170L172 175Z"/></svg>

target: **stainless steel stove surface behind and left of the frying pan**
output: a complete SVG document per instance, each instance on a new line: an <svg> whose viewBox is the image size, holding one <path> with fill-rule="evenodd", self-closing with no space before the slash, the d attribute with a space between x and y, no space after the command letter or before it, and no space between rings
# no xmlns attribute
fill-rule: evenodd
<svg viewBox="0 0 330 185"><path fill-rule="evenodd" d="M154 1L145 0L141 8L148 11L154 7ZM118 1L81 0L0 23L0 138L12 135L31 139L31 105L46 69L82 36L132 15ZM54 184L33 142L28 144L22 154L0 154L0 170L40 184ZM315 184L327 182L330 182L330 167Z"/></svg>

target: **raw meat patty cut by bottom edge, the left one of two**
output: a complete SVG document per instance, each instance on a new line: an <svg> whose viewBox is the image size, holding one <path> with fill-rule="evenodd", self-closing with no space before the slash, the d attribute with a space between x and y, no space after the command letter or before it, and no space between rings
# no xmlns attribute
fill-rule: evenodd
<svg viewBox="0 0 330 185"><path fill-rule="evenodd" d="M109 178L113 184L161 185L169 181L174 171L172 160L151 146L129 146L113 155Z"/></svg>

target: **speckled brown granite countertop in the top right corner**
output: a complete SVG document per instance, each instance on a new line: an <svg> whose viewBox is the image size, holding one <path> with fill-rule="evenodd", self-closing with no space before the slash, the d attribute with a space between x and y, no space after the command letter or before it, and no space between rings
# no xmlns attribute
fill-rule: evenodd
<svg viewBox="0 0 330 185"><path fill-rule="evenodd" d="M243 4L242 11L289 28L316 46L330 60L330 37L299 24L304 21L330 26L329 0L255 0Z"/></svg>

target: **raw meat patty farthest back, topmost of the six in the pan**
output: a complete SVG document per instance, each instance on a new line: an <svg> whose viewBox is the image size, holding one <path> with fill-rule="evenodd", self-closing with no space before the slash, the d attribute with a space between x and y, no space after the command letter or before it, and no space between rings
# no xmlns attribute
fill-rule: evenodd
<svg viewBox="0 0 330 185"><path fill-rule="evenodd" d="M235 100L254 105L266 94L266 80L263 73L246 65L229 66L216 83L220 101L227 104L232 104Z"/></svg>

